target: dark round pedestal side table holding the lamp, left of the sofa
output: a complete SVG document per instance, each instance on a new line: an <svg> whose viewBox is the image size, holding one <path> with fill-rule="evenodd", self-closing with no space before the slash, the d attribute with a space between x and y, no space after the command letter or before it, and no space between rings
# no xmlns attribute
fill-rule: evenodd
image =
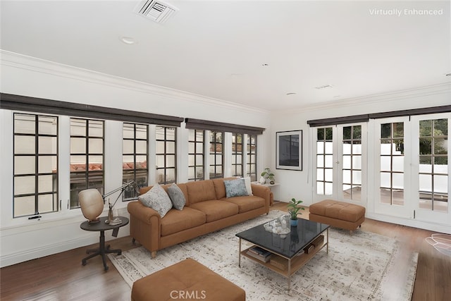
<svg viewBox="0 0 451 301"><path fill-rule="evenodd" d="M104 269L105 271L108 271L108 266L106 265L106 254L107 253L118 253L118 255L122 254L122 250L110 250L110 245L107 245L105 247L105 231L113 230L113 236L116 238L118 237L119 228L128 224L128 218L126 218L125 216L117 216L117 217L122 221L122 223L119 223L118 225L110 225L109 223L105 223L106 219L108 219L107 216L100 217L99 218L100 221L98 223L89 223L89 221L84 221L80 224L80 228L82 228L85 231L100 232L99 248L86 250L87 254L89 253L92 254L82 259L83 266L86 265L87 259L91 259L92 257L100 255L101 259L104 262Z"/></svg>

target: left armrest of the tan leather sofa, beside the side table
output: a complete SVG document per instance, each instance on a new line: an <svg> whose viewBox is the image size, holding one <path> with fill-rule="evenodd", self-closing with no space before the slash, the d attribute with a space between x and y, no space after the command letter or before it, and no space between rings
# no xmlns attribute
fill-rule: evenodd
<svg viewBox="0 0 451 301"><path fill-rule="evenodd" d="M154 257L160 245L160 214L140 201L129 202L127 209L130 213L130 236L152 252Z"/></svg>

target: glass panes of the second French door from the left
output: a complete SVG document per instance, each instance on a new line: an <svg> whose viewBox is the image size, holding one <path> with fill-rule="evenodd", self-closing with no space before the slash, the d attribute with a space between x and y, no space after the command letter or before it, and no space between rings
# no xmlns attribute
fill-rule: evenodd
<svg viewBox="0 0 451 301"><path fill-rule="evenodd" d="M362 193L362 125L344 127L342 142L343 197L360 200Z"/></svg>

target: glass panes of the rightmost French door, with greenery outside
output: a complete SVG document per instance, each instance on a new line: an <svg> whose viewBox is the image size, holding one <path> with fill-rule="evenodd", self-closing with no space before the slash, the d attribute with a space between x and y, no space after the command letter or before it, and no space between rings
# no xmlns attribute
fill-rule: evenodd
<svg viewBox="0 0 451 301"><path fill-rule="evenodd" d="M420 208L448 209L448 120L419 122Z"/></svg>

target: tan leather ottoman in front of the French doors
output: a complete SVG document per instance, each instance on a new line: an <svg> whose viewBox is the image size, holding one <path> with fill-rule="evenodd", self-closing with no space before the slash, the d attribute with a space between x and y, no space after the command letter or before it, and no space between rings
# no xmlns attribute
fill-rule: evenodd
<svg viewBox="0 0 451 301"><path fill-rule="evenodd" d="M309 220L353 231L365 221L365 207L324 199L309 207Z"/></svg>

